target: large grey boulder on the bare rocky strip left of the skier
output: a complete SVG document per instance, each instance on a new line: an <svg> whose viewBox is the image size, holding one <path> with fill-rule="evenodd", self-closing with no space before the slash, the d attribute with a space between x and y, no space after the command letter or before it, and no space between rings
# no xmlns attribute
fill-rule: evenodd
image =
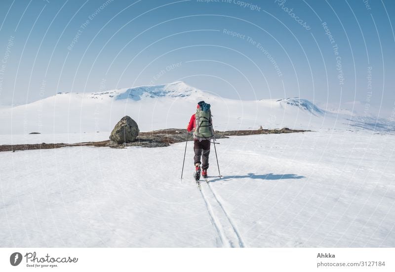
<svg viewBox="0 0 395 272"><path fill-rule="evenodd" d="M139 135L139 127L137 123L129 116L124 116L115 125L111 132L110 140L116 143L132 142Z"/></svg>

